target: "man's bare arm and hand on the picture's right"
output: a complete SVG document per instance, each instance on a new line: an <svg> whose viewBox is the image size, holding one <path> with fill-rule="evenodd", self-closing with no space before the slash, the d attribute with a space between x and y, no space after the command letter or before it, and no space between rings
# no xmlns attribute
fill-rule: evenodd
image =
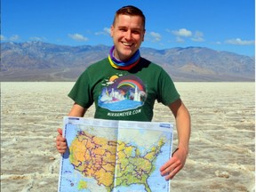
<svg viewBox="0 0 256 192"><path fill-rule="evenodd" d="M175 117L179 143L178 149L173 153L172 158L160 168L160 172L162 176L165 176L165 180L172 180L186 163L191 125L188 109L181 100L176 100L168 107Z"/></svg>

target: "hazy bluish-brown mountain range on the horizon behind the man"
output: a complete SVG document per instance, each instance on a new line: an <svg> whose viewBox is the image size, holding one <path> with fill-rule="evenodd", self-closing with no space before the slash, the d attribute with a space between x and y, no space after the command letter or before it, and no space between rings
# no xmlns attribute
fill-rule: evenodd
<svg viewBox="0 0 256 192"><path fill-rule="evenodd" d="M75 81L86 67L108 56L105 45L2 43L1 81ZM162 66L174 81L254 81L254 58L204 47L156 50L142 57Z"/></svg>

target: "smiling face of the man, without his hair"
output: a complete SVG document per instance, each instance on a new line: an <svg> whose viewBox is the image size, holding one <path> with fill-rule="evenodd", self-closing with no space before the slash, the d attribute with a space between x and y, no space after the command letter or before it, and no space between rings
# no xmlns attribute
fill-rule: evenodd
<svg viewBox="0 0 256 192"><path fill-rule="evenodd" d="M129 60L144 40L145 28L140 16L118 15L110 34L115 45L115 57Z"/></svg>

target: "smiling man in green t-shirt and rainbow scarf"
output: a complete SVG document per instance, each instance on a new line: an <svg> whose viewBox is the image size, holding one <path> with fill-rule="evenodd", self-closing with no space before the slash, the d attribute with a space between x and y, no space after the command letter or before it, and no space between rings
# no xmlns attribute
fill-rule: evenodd
<svg viewBox="0 0 256 192"><path fill-rule="evenodd" d="M140 57L145 22L137 7L124 6L116 12L110 30L114 46L108 58L92 64L76 81L68 94L75 101L68 116L84 116L95 103L95 118L151 121L155 100L162 102L175 117L179 139L172 158L160 169L165 180L170 180L188 156L190 116L171 77L163 68ZM56 148L63 154L67 143L61 129L58 132Z"/></svg>

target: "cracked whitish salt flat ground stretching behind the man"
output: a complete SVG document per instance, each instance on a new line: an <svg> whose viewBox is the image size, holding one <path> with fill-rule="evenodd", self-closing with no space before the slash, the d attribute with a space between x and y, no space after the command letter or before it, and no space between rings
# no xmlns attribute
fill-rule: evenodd
<svg viewBox="0 0 256 192"><path fill-rule="evenodd" d="M57 128L70 83L1 83L1 191L57 191ZM255 84L175 83L192 120L185 167L172 192L255 191ZM174 122L156 103L153 121ZM90 108L87 117L93 116ZM173 148L177 146L174 132Z"/></svg>

